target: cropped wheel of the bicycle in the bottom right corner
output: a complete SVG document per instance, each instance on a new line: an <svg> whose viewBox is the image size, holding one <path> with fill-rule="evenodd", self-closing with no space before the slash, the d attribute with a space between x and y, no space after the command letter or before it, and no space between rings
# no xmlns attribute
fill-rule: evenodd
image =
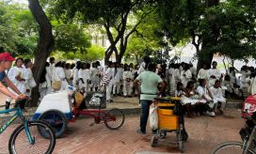
<svg viewBox="0 0 256 154"><path fill-rule="evenodd" d="M242 147L242 142L226 142L219 146L216 146L211 154L241 154L243 153ZM249 148L248 154L256 154L256 152L253 149Z"/></svg>

